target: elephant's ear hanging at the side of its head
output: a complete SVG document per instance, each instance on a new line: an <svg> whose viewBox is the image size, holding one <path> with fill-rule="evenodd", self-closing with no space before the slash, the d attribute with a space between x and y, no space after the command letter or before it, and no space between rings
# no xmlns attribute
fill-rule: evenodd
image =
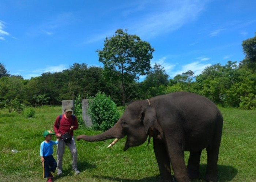
<svg viewBox="0 0 256 182"><path fill-rule="evenodd" d="M157 114L155 108L152 106L144 105L142 106L142 111L140 112L140 121L143 123L145 132L148 132L150 127L154 127L157 123Z"/></svg>

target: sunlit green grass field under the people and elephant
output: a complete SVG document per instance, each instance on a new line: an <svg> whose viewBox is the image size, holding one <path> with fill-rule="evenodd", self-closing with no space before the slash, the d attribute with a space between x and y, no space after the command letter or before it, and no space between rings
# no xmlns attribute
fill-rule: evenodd
<svg viewBox="0 0 256 182"><path fill-rule="evenodd" d="M40 143L44 141L42 132L53 130L53 123L61 113L61 107L34 108L34 118L22 114L0 110L0 181L45 182L39 156ZM223 134L219 151L219 181L256 181L256 111L234 108L220 108L223 118ZM100 131L79 128L74 132L94 135ZM53 140L56 138L53 137ZM86 182L155 182L160 179L152 141L123 151L125 138L115 146L107 148L112 140L102 142L77 141L79 175L71 168L71 155L68 148L63 157L63 175L53 181ZM12 153L12 149L18 153ZM185 152L185 160L188 159ZM56 146L54 155L56 159ZM204 182L206 151L202 152L200 179ZM55 172L56 174L56 172Z"/></svg>

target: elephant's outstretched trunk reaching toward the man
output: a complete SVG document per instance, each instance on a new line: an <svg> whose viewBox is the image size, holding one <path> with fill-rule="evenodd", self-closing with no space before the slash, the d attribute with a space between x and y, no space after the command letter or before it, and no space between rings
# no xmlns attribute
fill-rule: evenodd
<svg viewBox="0 0 256 182"><path fill-rule="evenodd" d="M98 135L79 135L76 137L77 140L83 139L87 142L97 142L97 141L103 141L111 138L123 138L125 135L122 132L122 127L120 124L120 121L118 122L109 130L98 134Z"/></svg>

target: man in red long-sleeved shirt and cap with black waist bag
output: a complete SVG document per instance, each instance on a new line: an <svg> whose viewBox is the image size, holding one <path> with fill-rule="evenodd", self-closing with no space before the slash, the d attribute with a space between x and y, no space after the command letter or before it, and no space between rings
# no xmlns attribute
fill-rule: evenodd
<svg viewBox="0 0 256 182"><path fill-rule="evenodd" d="M77 151L76 143L73 134L73 130L78 128L78 122L76 116L72 115L73 107L65 106L64 114L57 116L55 123L53 125L56 137L60 137L59 143L57 145L57 175L62 174L62 157L65 151L65 145L68 146L71 156L72 156L72 169L75 174L79 174L80 171L77 168ZM61 119L60 119L61 118ZM60 119L60 120L59 120ZM70 142L65 143L63 141L62 135L69 132L72 139Z"/></svg>

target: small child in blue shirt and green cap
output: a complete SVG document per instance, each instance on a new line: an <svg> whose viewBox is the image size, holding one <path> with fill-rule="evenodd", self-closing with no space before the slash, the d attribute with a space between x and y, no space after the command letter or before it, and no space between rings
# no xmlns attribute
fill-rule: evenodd
<svg viewBox="0 0 256 182"><path fill-rule="evenodd" d="M43 133L45 141L41 143L40 156L41 162L44 167L44 178L47 178L47 182L52 182L53 175L51 172L55 172L57 163L53 158L53 145L57 145L59 142L59 137L56 142L52 141L52 135L55 135L52 131L48 130Z"/></svg>

